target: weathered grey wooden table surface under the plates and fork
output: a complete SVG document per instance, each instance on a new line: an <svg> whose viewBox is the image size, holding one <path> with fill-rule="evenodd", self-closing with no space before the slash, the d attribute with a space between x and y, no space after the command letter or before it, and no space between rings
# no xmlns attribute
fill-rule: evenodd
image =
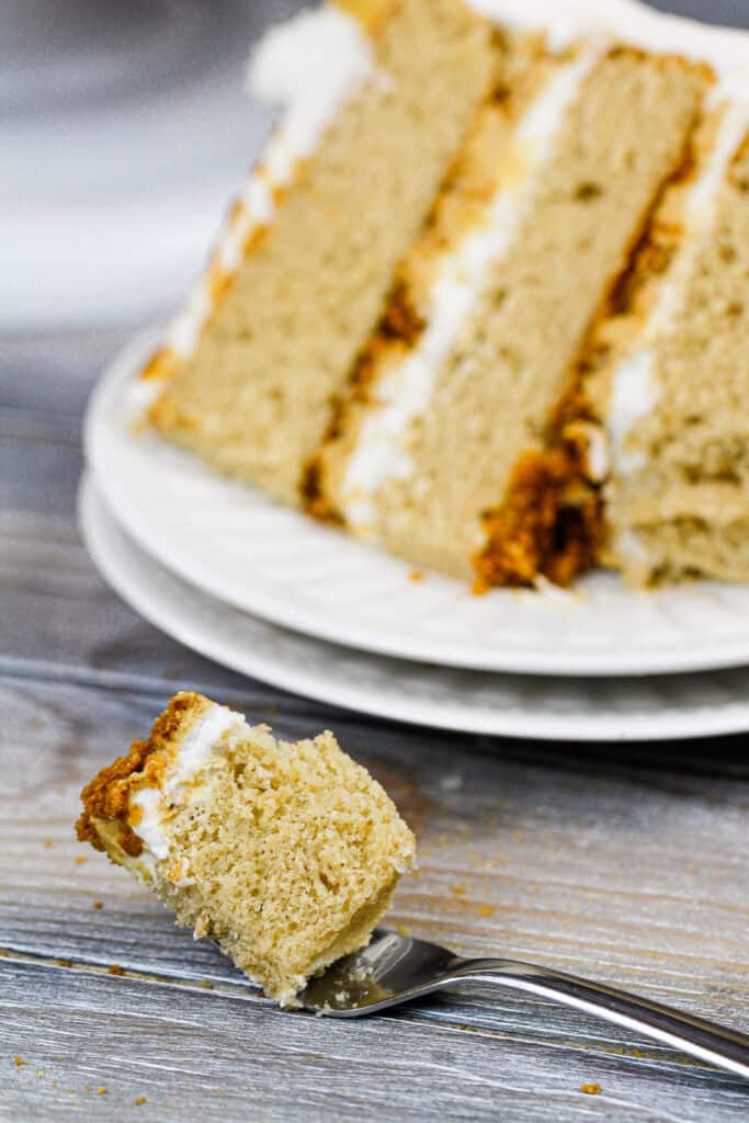
<svg viewBox="0 0 749 1123"><path fill-rule="evenodd" d="M749 1030L747 739L436 733L281 694L162 636L76 529L82 411L120 343L0 348L0 1120L746 1123L739 1078L531 997L283 1013L75 841L81 785L195 686L286 737L332 728L385 784L420 842L400 924Z"/></svg>

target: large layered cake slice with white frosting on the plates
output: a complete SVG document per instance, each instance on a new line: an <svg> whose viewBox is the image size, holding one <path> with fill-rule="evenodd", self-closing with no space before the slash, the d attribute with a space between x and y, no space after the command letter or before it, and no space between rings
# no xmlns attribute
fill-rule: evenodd
<svg viewBox="0 0 749 1123"><path fill-rule="evenodd" d="M153 424L481 590L749 579L748 64L631 0L298 17Z"/></svg>

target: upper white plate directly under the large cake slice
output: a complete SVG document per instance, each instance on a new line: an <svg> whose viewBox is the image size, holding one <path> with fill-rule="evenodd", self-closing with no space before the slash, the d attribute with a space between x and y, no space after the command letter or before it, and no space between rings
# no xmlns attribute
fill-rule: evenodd
<svg viewBox="0 0 749 1123"><path fill-rule="evenodd" d="M137 431L155 343L138 337L94 391L90 466L128 533L163 565L235 608L401 659L546 675L642 675L749 663L749 586L633 593L611 574L575 593L495 590L410 567L278 506Z"/></svg>

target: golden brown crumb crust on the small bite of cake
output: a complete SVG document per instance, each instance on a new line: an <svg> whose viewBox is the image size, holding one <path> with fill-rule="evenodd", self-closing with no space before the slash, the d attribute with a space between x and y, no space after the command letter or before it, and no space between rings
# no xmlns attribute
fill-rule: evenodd
<svg viewBox="0 0 749 1123"><path fill-rule="evenodd" d="M134 741L127 756L118 757L86 784L81 792L83 811L75 824L75 833L81 842L90 842L97 850L104 850L92 820L119 820L122 827L118 839L120 847L133 857L140 853L143 841L127 824L133 777L144 772L155 754L168 749L185 724L192 724L208 705L208 699L192 691L175 694L154 722L147 740Z"/></svg>

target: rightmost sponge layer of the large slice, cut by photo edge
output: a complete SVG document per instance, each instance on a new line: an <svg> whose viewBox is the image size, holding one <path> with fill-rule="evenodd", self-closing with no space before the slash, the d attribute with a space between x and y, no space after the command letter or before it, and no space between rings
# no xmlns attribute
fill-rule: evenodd
<svg viewBox="0 0 749 1123"><path fill-rule="evenodd" d="M604 375L608 559L630 583L749 579L749 107L715 117L678 253Z"/></svg>

